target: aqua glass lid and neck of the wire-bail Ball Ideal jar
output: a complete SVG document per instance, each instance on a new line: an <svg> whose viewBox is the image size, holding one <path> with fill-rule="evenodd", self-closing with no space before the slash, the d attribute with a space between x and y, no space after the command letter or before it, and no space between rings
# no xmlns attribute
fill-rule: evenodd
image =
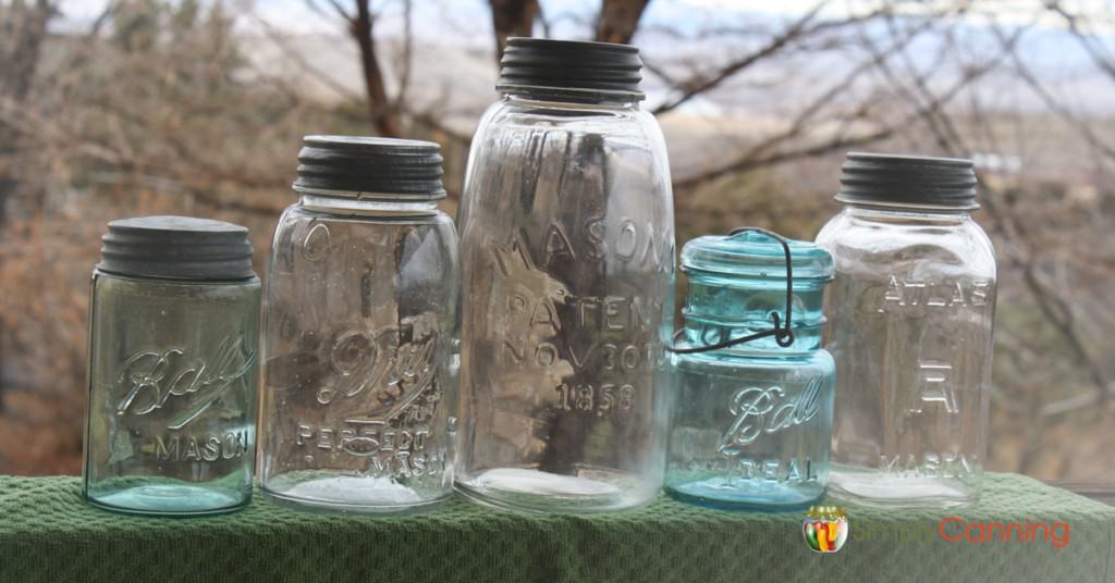
<svg viewBox="0 0 1115 583"><path fill-rule="evenodd" d="M675 352L812 350L824 323L832 255L814 243L744 227L686 243L686 322Z"/></svg>

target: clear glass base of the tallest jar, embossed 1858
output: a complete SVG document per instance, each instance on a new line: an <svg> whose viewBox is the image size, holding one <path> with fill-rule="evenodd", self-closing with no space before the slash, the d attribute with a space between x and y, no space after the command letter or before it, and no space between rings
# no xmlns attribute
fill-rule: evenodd
<svg viewBox="0 0 1115 583"><path fill-rule="evenodd" d="M641 506L653 499L657 489L614 470L566 476L537 469L494 468L457 482L457 490L465 497L487 506L585 514Z"/></svg>

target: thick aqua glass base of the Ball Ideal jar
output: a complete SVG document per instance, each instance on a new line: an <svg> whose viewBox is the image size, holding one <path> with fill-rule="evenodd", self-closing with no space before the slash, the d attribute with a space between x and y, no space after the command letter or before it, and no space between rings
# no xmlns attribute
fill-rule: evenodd
<svg viewBox="0 0 1115 583"><path fill-rule="evenodd" d="M748 492L741 488L726 488L723 479L711 478L690 482L663 489L671 498L687 504L725 511L791 512L808 508L825 495L824 487L803 492L785 486Z"/></svg>

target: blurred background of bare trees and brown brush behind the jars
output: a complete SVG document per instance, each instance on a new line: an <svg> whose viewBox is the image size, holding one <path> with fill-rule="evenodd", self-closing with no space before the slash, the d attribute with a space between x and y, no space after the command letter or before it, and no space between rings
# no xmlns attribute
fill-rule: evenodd
<svg viewBox="0 0 1115 583"><path fill-rule="evenodd" d="M845 152L973 157L1000 265L989 466L1115 483L1109 2L0 0L0 473L80 472L107 221L248 225L306 134L443 145L455 212L507 36L633 42L679 246L812 239Z"/></svg>

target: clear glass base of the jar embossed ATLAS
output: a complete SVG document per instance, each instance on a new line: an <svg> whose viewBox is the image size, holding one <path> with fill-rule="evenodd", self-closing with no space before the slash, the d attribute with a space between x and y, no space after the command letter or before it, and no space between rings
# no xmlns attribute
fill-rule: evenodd
<svg viewBox="0 0 1115 583"><path fill-rule="evenodd" d="M880 472L838 470L830 476L833 498L875 508L958 508L976 503L978 492L959 478L898 477Z"/></svg>

